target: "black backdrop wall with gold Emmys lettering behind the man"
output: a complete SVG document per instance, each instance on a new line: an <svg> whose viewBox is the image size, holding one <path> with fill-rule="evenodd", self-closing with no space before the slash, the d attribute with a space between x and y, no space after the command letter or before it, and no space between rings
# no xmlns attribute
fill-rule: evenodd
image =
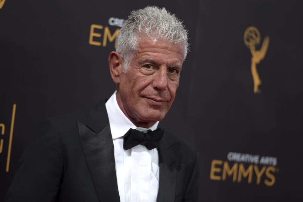
<svg viewBox="0 0 303 202"><path fill-rule="evenodd" d="M198 150L199 201L303 201L303 4L264 0L0 0L0 201L39 120L111 96L108 55L146 5L188 29L160 125Z"/></svg>

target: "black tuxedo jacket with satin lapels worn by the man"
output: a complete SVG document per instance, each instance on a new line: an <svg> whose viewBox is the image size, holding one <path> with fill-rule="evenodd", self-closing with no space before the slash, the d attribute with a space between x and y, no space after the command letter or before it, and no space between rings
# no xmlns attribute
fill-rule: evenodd
<svg viewBox="0 0 303 202"><path fill-rule="evenodd" d="M197 201L197 153L165 132L158 147L158 202ZM18 165L7 202L120 201L104 101L43 122Z"/></svg>

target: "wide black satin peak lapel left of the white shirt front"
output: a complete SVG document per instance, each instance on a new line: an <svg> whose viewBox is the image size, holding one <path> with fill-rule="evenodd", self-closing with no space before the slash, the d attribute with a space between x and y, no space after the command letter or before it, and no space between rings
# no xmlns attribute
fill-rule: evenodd
<svg viewBox="0 0 303 202"><path fill-rule="evenodd" d="M114 145L105 103L90 110L87 124L78 122L80 139L99 201L120 201Z"/></svg>

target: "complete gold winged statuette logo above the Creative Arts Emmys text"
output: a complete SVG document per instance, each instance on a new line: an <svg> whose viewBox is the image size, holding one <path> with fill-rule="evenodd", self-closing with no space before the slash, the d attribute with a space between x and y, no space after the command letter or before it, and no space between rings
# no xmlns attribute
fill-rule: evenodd
<svg viewBox="0 0 303 202"><path fill-rule="evenodd" d="M251 74L254 80L254 93L260 93L259 85L261 80L257 71L257 64L264 59L269 45L269 36L265 36L260 50L256 50L256 45L260 44L261 35L257 28L251 26L244 32L244 43L251 52Z"/></svg>

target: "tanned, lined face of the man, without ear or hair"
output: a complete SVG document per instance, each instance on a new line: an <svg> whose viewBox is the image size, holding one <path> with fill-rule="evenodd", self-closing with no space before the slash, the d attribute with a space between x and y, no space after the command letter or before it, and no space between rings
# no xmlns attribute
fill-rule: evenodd
<svg viewBox="0 0 303 202"><path fill-rule="evenodd" d="M156 38L141 38L138 52L121 72L117 101L136 125L149 127L167 114L179 86L183 47Z"/></svg>

